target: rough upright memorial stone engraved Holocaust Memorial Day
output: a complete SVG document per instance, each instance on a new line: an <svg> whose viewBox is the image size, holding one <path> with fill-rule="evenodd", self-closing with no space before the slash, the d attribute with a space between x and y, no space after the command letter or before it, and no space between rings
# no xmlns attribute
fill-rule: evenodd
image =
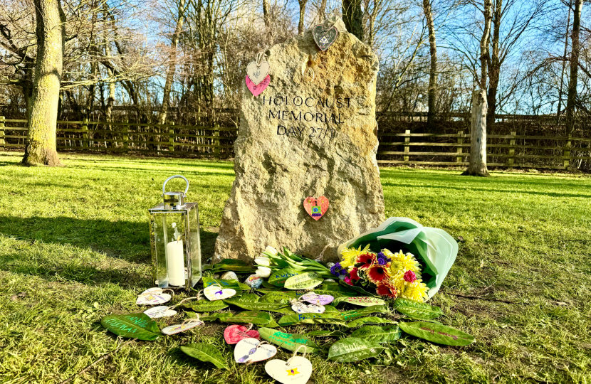
<svg viewBox="0 0 591 384"><path fill-rule="evenodd" d="M343 239L384 221L377 166L375 92L378 60L371 48L333 19L338 39L318 53L312 31L266 50L273 82L264 92L242 89L236 178L221 217L214 263L251 262L267 245L297 255L338 259ZM319 62L315 79L304 70ZM249 90L250 89L250 90ZM306 196L325 196L330 209L311 220Z"/></svg>

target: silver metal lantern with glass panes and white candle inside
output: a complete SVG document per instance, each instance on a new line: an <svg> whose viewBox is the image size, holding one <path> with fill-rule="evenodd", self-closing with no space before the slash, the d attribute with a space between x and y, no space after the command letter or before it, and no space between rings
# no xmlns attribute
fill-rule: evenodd
<svg viewBox="0 0 591 384"><path fill-rule="evenodd" d="M167 192L166 183L182 178L184 192ZM150 246L156 284L161 288L192 289L202 277L199 207L185 203L189 181L170 176L162 184L164 203L150 208Z"/></svg>

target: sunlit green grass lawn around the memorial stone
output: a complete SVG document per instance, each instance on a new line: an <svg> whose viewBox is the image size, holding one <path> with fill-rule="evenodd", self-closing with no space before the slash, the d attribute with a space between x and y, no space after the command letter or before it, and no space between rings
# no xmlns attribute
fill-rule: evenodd
<svg viewBox="0 0 591 384"><path fill-rule="evenodd" d="M25 168L21 156L0 152L0 383L53 383L117 348L102 316L143 310L135 298L152 286L147 208L164 178L192 182L187 201L199 202L207 258L234 171L229 162L72 154L62 154L63 168ZM406 337L390 366L310 356L310 383L591 383L591 178L459 174L382 169L382 184L386 217L465 239L433 304L476 342ZM263 363L234 363L224 327L135 341L74 382L272 383ZM231 369L185 356L179 346L192 342L219 348ZM290 355L280 348L278 358Z"/></svg>

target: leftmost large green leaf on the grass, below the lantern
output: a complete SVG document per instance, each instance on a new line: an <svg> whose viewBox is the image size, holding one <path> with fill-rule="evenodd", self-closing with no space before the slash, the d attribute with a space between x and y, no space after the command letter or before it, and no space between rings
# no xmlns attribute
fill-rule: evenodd
<svg viewBox="0 0 591 384"><path fill-rule="evenodd" d="M107 315L100 319L100 325L113 332L113 334L145 341L155 341L162 335L156 322L143 313Z"/></svg>

